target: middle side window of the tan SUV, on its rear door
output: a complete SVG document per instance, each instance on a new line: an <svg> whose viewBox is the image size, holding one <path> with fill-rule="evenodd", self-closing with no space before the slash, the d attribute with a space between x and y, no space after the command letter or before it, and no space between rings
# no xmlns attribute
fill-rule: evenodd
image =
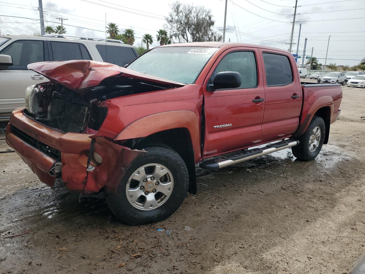
<svg viewBox="0 0 365 274"><path fill-rule="evenodd" d="M54 61L91 60L86 47L80 43L51 41Z"/></svg>

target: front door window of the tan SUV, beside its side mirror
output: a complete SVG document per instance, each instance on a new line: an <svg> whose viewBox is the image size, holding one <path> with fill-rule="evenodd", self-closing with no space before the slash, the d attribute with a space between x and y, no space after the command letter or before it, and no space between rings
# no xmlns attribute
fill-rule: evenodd
<svg viewBox="0 0 365 274"><path fill-rule="evenodd" d="M11 56L13 65L6 69L13 70L27 70L28 64L45 60L43 42L35 40L18 40L5 47L0 54Z"/></svg>

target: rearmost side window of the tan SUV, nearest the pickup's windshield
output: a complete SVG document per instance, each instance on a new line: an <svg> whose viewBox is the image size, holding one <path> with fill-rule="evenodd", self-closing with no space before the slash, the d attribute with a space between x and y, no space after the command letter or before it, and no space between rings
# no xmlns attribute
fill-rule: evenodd
<svg viewBox="0 0 365 274"><path fill-rule="evenodd" d="M118 66L129 64L134 58L136 58L131 47L96 45L96 49L104 62Z"/></svg>

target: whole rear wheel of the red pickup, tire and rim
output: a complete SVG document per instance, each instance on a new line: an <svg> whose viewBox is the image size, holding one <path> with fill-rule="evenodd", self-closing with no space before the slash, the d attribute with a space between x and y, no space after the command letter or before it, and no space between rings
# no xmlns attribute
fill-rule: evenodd
<svg viewBox="0 0 365 274"><path fill-rule="evenodd" d="M292 146L293 155L299 160L314 160L322 149L326 125L321 117L313 117L306 132L299 139L299 145Z"/></svg>

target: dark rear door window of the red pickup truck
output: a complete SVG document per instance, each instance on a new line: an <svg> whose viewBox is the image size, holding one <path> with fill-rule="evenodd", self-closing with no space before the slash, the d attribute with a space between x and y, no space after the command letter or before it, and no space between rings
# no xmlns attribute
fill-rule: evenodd
<svg viewBox="0 0 365 274"><path fill-rule="evenodd" d="M266 85L288 85L293 81L289 58L285 55L263 53Z"/></svg>

